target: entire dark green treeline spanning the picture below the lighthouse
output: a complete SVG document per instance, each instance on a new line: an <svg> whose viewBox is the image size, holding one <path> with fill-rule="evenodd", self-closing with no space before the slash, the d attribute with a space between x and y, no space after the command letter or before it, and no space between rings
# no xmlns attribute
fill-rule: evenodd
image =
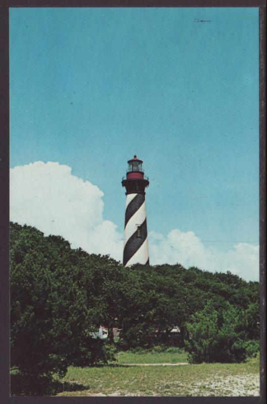
<svg viewBox="0 0 267 404"><path fill-rule="evenodd" d="M35 379L63 376L69 365L106 363L116 347L174 343L194 363L240 362L258 348L259 284L230 272L125 268L17 223L10 227L10 263L11 367ZM99 325L109 329L106 343L93 337Z"/></svg>

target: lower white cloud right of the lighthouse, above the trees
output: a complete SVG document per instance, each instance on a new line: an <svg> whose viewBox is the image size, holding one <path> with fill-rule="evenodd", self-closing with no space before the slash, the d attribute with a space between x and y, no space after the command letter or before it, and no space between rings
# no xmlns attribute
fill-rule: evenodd
<svg viewBox="0 0 267 404"><path fill-rule="evenodd" d="M154 264L176 264L198 267L210 272L230 271L243 279L259 278L259 246L236 243L228 251L206 247L194 232L172 230L166 237L149 232L149 260Z"/></svg>

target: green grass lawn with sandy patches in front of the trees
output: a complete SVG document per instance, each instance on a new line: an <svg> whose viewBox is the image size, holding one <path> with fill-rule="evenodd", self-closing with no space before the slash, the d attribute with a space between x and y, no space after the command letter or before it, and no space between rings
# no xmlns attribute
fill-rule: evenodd
<svg viewBox="0 0 267 404"><path fill-rule="evenodd" d="M184 352L119 352L107 366L68 369L59 396L238 396L259 395L259 357L244 364L127 366L185 362Z"/></svg>

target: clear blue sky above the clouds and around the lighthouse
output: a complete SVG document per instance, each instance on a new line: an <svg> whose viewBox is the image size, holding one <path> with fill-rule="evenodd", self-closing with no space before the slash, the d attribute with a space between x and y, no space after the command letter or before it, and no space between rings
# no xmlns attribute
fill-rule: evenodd
<svg viewBox="0 0 267 404"><path fill-rule="evenodd" d="M258 244L258 9L11 9L10 95L12 168L70 166L123 232L136 154L148 230Z"/></svg>

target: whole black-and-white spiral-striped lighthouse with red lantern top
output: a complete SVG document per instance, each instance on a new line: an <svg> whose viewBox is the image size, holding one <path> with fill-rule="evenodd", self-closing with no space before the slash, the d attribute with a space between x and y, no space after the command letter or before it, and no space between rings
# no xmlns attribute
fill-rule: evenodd
<svg viewBox="0 0 267 404"><path fill-rule="evenodd" d="M144 175L142 160L136 156L128 161L122 186L126 188L123 265L149 264L145 213L145 188L149 185Z"/></svg>

